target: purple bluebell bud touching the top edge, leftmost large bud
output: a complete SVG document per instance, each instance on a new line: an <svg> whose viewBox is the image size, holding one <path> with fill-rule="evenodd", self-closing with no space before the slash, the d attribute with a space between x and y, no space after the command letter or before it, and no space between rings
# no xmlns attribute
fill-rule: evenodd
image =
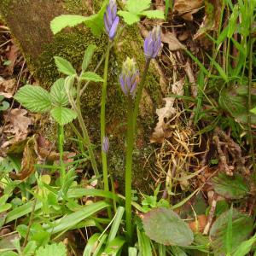
<svg viewBox="0 0 256 256"><path fill-rule="evenodd" d="M113 40L119 25L119 16L117 15L117 5L115 0L109 0L109 4L104 15L104 24L109 39Z"/></svg>

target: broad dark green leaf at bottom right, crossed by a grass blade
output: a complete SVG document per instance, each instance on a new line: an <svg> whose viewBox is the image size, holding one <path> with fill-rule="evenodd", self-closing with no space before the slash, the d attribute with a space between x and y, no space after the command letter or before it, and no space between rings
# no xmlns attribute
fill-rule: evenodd
<svg viewBox="0 0 256 256"><path fill-rule="evenodd" d="M225 237L227 236L227 229L229 223L230 210L221 214L217 220L212 224L210 230L210 240L212 241L212 247L214 255L225 255ZM242 228L241 228L242 227ZM236 251L236 248L250 236L253 231L253 218L247 214L238 212L233 209L232 213L232 234L230 237L230 250L231 255Z"/></svg>

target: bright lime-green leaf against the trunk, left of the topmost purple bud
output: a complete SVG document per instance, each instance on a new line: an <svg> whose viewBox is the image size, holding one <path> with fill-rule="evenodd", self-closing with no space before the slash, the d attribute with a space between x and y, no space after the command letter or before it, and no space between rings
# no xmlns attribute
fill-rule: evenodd
<svg viewBox="0 0 256 256"><path fill-rule="evenodd" d="M84 17L81 15L60 15L55 17L54 20L50 21L50 29L54 34L56 34L67 26L77 26L87 19L88 17Z"/></svg>

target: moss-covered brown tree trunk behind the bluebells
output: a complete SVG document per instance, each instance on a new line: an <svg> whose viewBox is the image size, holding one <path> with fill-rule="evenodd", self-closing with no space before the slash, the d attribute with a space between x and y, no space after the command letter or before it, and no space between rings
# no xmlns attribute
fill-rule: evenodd
<svg viewBox="0 0 256 256"><path fill-rule="evenodd" d="M16 44L26 57L26 63L38 79L38 83L48 87L60 74L55 68L53 56L67 58L79 70L84 49L89 44L96 44L96 55L91 68L96 67L97 61L106 51L108 38L102 35L94 37L84 26L66 29L55 37L49 29L49 22L61 14L91 15L100 9L102 0L0 0L0 13L9 26ZM137 27L127 27L114 47L110 56L108 75L108 102L107 102L107 134L110 138L110 170L115 177L122 180L125 170L125 98L119 89L118 76L122 62L126 56L134 57L143 72L144 55L143 40ZM102 69L98 73L102 74ZM143 189L145 182L144 163L152 148L148 146L149 136L154 125L154 108L160 102L161 91L159 74L150 67L150 73L144 91L143 114L139 127L137 149L134 152L134 186ZM96 144L99 138L99 112L101 99L101 84L90 84L82 97L84 119L90 130L90 137ZM146 111L145 111L146 109ZM143 115L143 116L142 116ZM50 136L52 125L46 121L42 125L45 134ZM49 131L48 131L49 130ZM100 165L100 163L99 163ZM147 184L147 183L146 183ZM148 185L147 185L148 186ZM145 187L144 187L145 189ZM143 189L143 190L144 190Z"/></svg>

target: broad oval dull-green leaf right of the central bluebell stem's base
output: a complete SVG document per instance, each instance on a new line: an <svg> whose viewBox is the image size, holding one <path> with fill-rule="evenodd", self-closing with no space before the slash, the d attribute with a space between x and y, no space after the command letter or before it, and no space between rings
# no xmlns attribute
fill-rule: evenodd
<svg viewBox="0 0 256 256"><path fill-rule="evenodd" d="M189 246L194 240L193 232L177 213L159 207L143 216L146 235L164 245Z"/></svg>

